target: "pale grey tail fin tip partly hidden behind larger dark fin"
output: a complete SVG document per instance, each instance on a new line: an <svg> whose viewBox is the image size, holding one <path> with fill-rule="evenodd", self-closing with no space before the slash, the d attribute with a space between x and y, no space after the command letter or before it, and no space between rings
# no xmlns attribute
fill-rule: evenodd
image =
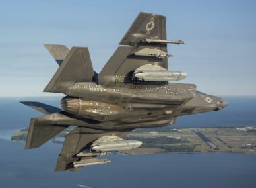
<svg viewBox="0 0 256 188"><path fill-rule="evenodd" d="M69 53L69 48L67 48L65 45L44 44L44 46L59 65L61 65L61 63Z"/></svg>

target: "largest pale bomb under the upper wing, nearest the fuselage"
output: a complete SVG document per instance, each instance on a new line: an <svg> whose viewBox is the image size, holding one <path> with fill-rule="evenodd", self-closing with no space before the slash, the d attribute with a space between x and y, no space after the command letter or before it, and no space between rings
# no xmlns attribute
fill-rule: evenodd
<svg viewBox="0 0 256 188"><path fill-rule="evenodd" d="M133 77L143 81L179 81L187 77L187 73L168 70L135 71Z"/></svg>

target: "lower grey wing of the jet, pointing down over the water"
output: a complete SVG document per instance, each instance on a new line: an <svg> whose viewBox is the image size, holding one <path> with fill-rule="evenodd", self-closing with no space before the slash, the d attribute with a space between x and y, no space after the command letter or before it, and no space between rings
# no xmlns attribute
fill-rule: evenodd
<svg viewBox="0 0 256 188"><path fill-rule="evenodd" d="M97 156L106 155L108 152L91 152L92 142L103 136L125 137L131 130L94 130L77 127L65 137L63 148L55 171L76 171L77 169L94 164L106 164L110 161L97 159Z"/></svg>

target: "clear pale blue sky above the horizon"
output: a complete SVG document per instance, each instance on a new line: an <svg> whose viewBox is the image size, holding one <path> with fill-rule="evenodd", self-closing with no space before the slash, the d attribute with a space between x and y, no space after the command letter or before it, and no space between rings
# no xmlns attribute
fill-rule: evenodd
<svg viewBox="0 0 256 188"><path fill-rule="evenodd" d="M140 11L166 16L169 69L212 95L256 95L256 1L0 0L0 97L43 93L57 64L43 44L88 46L100 72Z"/></svg>

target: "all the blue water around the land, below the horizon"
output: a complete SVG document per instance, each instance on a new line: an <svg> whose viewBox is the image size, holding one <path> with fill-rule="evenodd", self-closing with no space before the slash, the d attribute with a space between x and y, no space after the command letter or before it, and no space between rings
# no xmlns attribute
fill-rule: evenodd
<svg viewBox="0 0 256 188"><path fill-rule="evenodd" d="M0 187L255 187L256 154L113 154L110 164L54 173L60 144L24 150L24 142L9 140L42 115L18 103L31 99L59 105L59 97L0 98ZM175 126L256 126L256 97L226 99L226 109L181 117Z"/></svg>

